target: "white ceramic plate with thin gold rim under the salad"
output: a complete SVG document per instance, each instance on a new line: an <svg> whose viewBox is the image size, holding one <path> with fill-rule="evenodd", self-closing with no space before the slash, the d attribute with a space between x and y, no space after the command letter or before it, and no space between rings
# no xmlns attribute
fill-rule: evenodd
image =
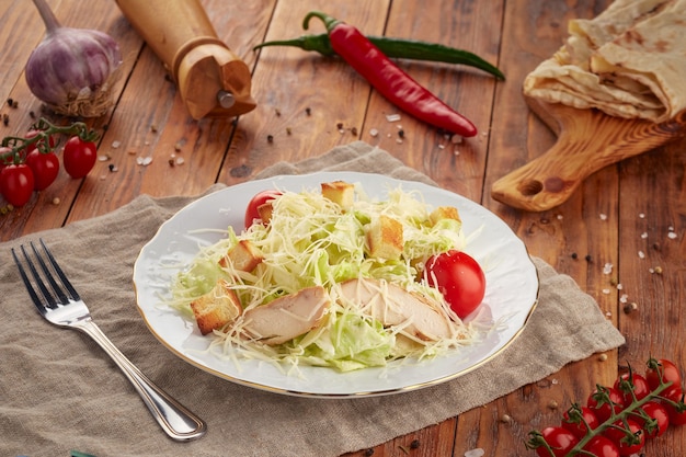
<svg viewBox="0 0 686 457"><path fill-rule="evenodd" d="M169 293L172 278L197 254L199 245L216 242L221 235L206 229L240 232L250 198L266 188L299 192L319 188L322 182L359 182L369 196L385 199L389 188L416 190L432 206L459 209L468 237L465 251L483 267L487 290L475 311L478 319L501 324L479 343L454 353L421 362L392 363L384 368L339 373L331 368L301 367L299 375L284 374L268 363L222 361L203 353L210 336L197 325L165 308L160 296ZM220 190L195 201L164 222L140 251L134 267L138 308L150 331L187 363L233 382L279 393L320 397L362 397L413 390L461 376L487 363L522 332L538 299L538 276L524 243L507 225L482 206L454 193L425 184L398 181L382 175L330 172L276 176Z"/></svg>

